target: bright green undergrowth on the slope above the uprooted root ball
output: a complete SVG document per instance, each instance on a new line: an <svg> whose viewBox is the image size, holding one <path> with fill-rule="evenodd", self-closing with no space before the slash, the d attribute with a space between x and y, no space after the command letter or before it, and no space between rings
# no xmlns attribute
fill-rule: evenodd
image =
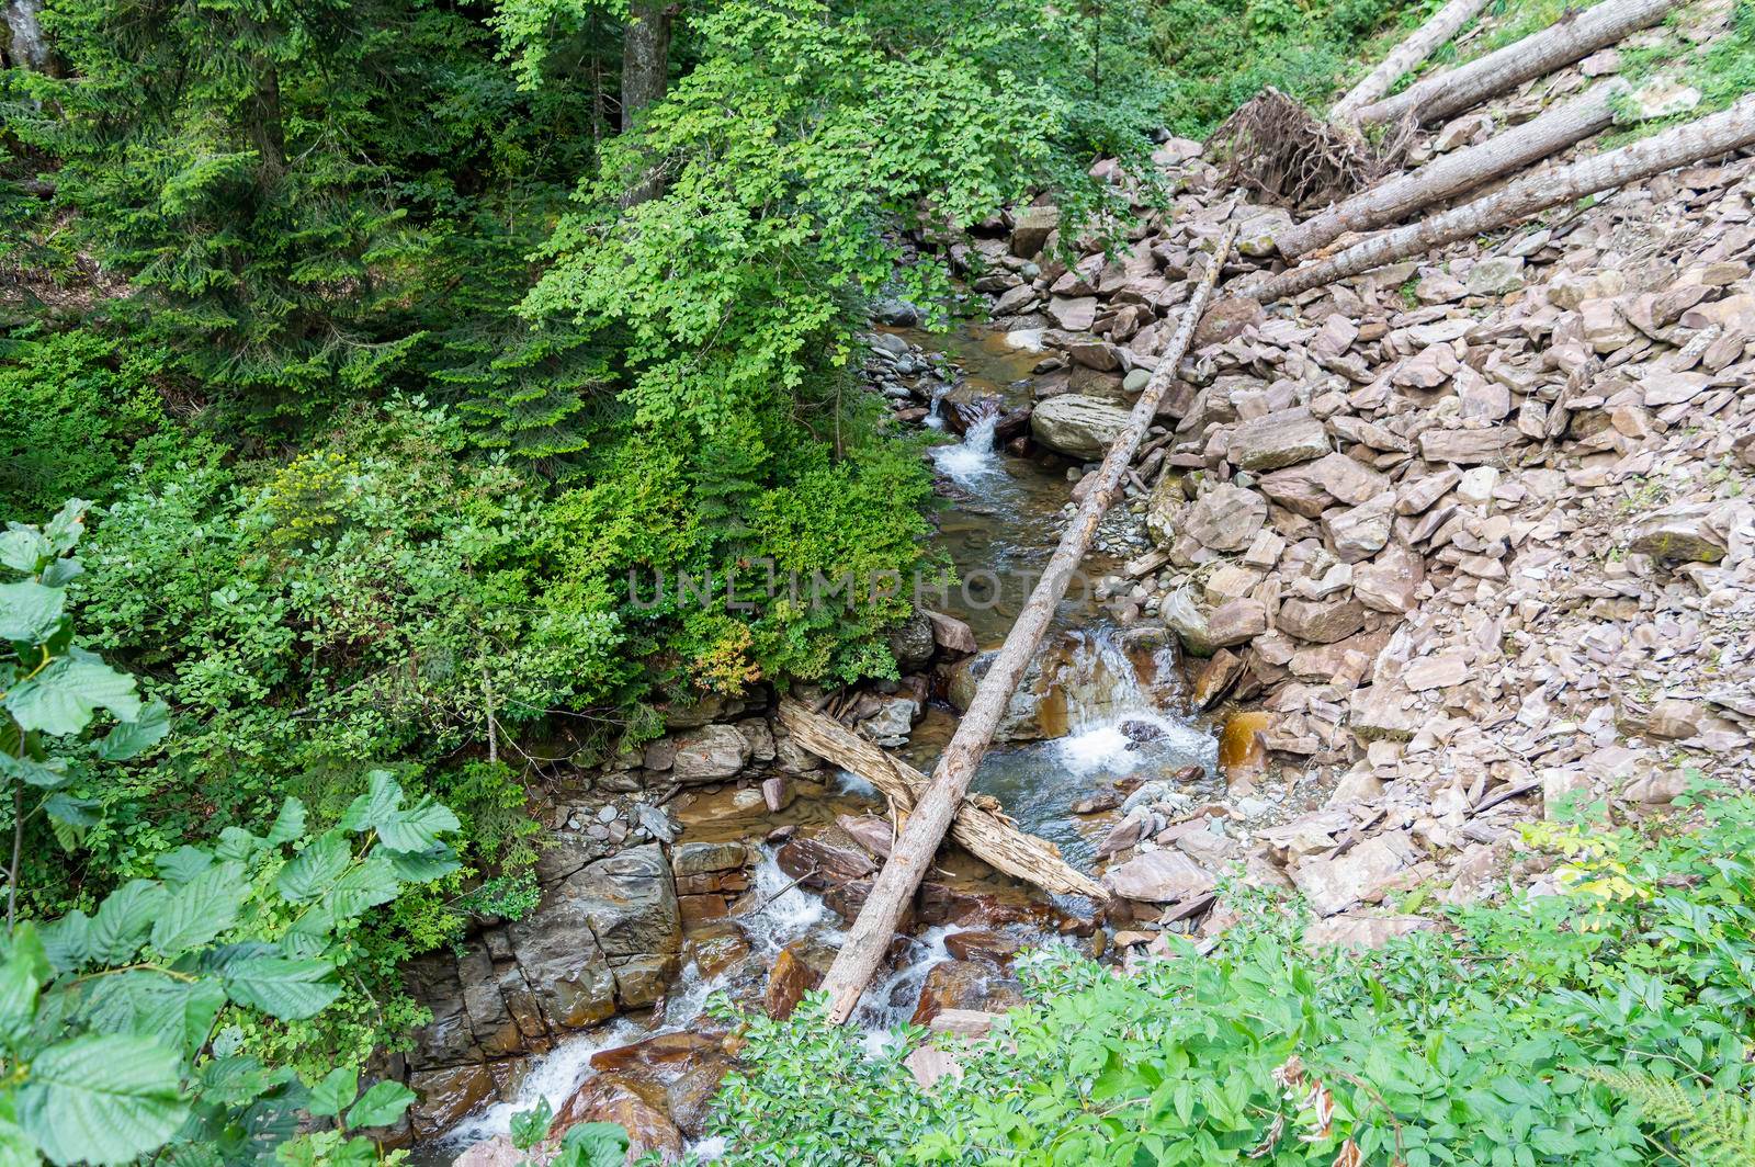
<svg viewBox="0 0 1755 1167"><path fill-rule="evenodd" d="M1400 35L1432 4L1406 0L1155 0L1153 47L1165 67L1165 125L1204 139L1274 86L1322 107L1374 37Z"/></svg>

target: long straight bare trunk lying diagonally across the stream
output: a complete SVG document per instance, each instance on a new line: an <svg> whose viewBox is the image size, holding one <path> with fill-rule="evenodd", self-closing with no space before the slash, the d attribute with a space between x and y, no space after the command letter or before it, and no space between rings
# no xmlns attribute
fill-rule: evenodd
<svg viewBox="0 0 1755 1167"><path fill-rule="evenodd" d="M1176 335L1158 356L1151 381L1146 383L1146 390L1134 404L1127 428L1109 446L1109 455L1097 470L1093 490L1079 504L1078 514L1060 537L1060 546L1048 560L1042 577L1018 612L1018 621L1006 635L1006 642L986 676L976 686L974 700L969 702L963 720L956 725L956 734L951 735L944 755L932 769L932 781L927 783L920 804L890 851L890 862L878 872L870 895L865 897L865 906L848 930L841 951L835 953L835 963L823 979L823 988L828 992L828 1014L835 1021L846 1021L855 1006L860 1004L860 995L870 984L872 974L878 972L878 965L890 948L902 909L914 895L914 888L920 886L927 867L932 865L932 856L939 849L944 832L949 830L951 820L962 809L969 783L986 755L988 742L993 741L993 730L999 728L1013 691L1030 667L1030 656L1035 655L1042 634L1048 632L1048 625L1055 618L1055 605L1067 593L1072 574L1078 570L1079 560L1085 558L1092 535L1097 533L1097 521L1109 509L1121 477L1134 460L1134 451L1139 449L1139 439L1158 411L1158 400L1176 379L1176 367L1188 351L1188 342L1193 339L1195 326L1200 323L1236 239L1236 225L1227 226L1188 309L1183 312Z"/></svg>

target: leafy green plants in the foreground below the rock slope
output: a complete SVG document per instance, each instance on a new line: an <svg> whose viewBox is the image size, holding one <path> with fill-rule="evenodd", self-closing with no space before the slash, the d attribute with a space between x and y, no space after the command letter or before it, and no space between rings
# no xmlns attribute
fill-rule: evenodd
<svg viewBox="0 0 1755 1167"><path fill-rule="evenodd" d="M1295 904L1234 891L1206 956L1037 953L1030 1004L927 1092L918 1034L867 1058L821 999L751 1020L727 1162L1748 1163L1755 798L1527 834L1560 895L1378 951L1307 949Z"/></svg>

